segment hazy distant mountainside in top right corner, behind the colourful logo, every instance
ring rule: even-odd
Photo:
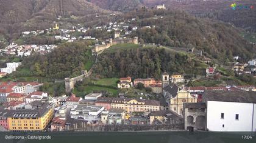
[[[231,22],[236,27],[256,32],[256,1],[255,0],[142,0],[147,7],[165,4],[167,8],[186,10],[194,15],[215,18],[224,22]],[[254,8],[232,10],[231,4],[251,6]]]

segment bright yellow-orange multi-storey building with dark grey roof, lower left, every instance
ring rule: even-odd
[[[34,101],[25,105],[25,109],[8,113],[10,131],[43,131],[54,116],[54,108],[48,102]]]

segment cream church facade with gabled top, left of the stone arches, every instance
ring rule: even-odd
[[[190,92],[182,89],[177,91],[176,96],[172,96],[170,99],[170,110],[176,112],[178,115],[182,115],[183,103],[197,102],[195,96],[191,96]]]

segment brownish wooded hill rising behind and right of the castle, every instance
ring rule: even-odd
[[[155,16],[157,15],[157,16]],[[174,47],[194,47],[204,54],[221,61],[232,60],[240,56],[244,61],[255,56],[256,47],[244,39],[243,30],[223,22],[196,18],[186,12],[172,10],[151,10],[142,8],[126,13],[124,18],[137,16],[132,22],[140,28],[134,36],[144,42]]]

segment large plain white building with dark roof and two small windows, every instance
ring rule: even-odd
[[[207,130],[256,131],[256,94],[252,91],[205,91]]]

